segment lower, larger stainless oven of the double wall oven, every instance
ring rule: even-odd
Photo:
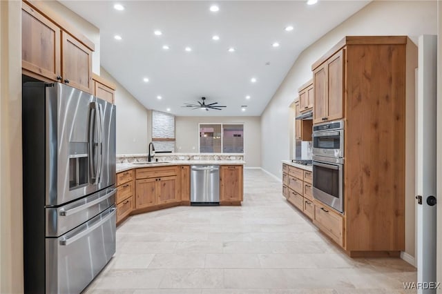
[[[331,160],[330,157],[313,155],[312,164],[313,197],[343,213],[344,164],[342,159]]]

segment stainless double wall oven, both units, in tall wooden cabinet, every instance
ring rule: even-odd
[[[312,140],[313,196],[343,213],[344,121],[314,125]]]

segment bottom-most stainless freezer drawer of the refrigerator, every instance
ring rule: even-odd
[[[115,205],[73,231],[46,238],[46,293],[80,293],[115,254]]]

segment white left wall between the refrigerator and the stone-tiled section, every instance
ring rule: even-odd
[[[104,68],[101,77],[117,86],[115,106],[117,106],[117,154],[147,153],[151,141],[151,110],[147,110],[118,83]]]

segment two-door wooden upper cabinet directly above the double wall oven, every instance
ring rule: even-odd
[[[343,48],[313,68],[314,124],[340,119],[344,116],[344,60],[345,49]]]

